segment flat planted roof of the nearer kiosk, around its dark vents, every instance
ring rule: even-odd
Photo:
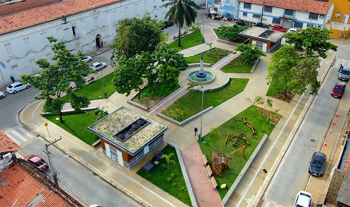
[[[130,134],[130,137],[125,141],[114,137],[120,131],[128,129],[140,118],[149,123]],[[163,134],[169,127],[123,106],[86,129],[133,154],[143,145]]]

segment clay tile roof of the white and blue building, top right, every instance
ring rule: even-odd
[[[332,3],[318,0],[238,0],[241,2],[287,8],[297,11],[327,14]]]

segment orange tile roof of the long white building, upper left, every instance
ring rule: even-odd
[[[62,15],[69,16],[118,1],[122,0],[67,0],[0,16],[0,34],[59,19],[62,18]]]

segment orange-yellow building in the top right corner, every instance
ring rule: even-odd
[[[334,33],[330,34],[333,37],[342,37],[350,34],[350,1],[349,0],[329,0],[329,2],[334,3],[333,16],[331,21],[325,24],[326,28],[329,28]]]

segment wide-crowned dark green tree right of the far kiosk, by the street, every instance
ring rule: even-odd
[[[321,57],[327,58],[326,52],[328,50],[337,51],[338,48],[337,45],[327,41],[331,39],[330,33],[333,31],[326,27],[321,30],[321,27],[311,26],[301,32],[288,32],[284,36],[287,43],[294,44],[294,47],[300,51],[304,51],[305,48],[307,55],[313,55],[316,51]]]

